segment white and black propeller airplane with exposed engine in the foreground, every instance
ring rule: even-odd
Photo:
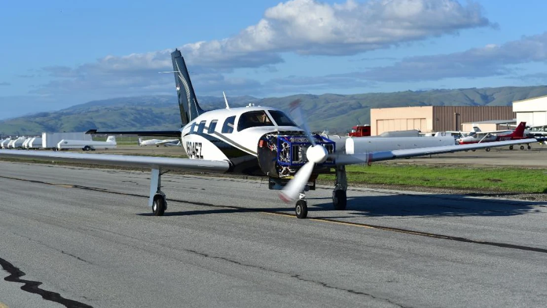
[[[392,138],[393,149],[397,150],[353,154],[346,154],[342,150],[337,152],[335,142],[312,134],[304,123],[301,123],[301,126],[296,125],[287,114],[276,108],[259,106],[230,108],[228,101],[225,100],[225,109],[203,111],[197,103],[181,52],[175,50],[171,57],[181,120],[184,125],[181,130],[156,132],[92,130],[90,133],[181,137],[183,148],[189,158],[10,150],[0,150],[0,156],[151,168],[148,205],[152,207],[155,216],[162,216],[167,208],[166,196],[161,191],[162,170],[266,176],[269,177],[269,188],[282,189],[281,199],[286,202],[296,201],[296,217],[305,218],[307,203],[304,191],[315,189],[315,179],[320,173],[335,171],[333,204],[336,210],[343,210],[347,203],[346,165],[536,142],[536,139],[530,138],[464,146],[452,143],[450,146],[397,149],[397,138]],[[299,118],[302,118],[297,104],[292,104],[292,108],[299,113]]]

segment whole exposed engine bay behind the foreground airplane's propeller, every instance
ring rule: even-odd
[[[313,135],[316,144],[321,144],[328,153],[334,153],[336,145],[333,141]],[[258,142],[258,161],[261,170],[269,177],[292,178],[296,171],[306,164],[306,150],[311,146],[307,136],[299,131],[271,132],[260,138]],[[327,159],[314,168],[315,176],[326,172],[334,166],[334,161]]]

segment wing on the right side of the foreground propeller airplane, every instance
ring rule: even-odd
[[[375,162],[375,161],[392,160],[392,159],[398,159],[398,158],[409,158],[409,157],[432,155],[432,154],[444,154],[444,153],[452,153],[452,152],[460,152],[460,151],[476,150],[476,149],[484,149],[484,148],[504,147],[504,146],[511,146],[514,144],[526,144],[526,143],[533,143],[533,142],[538,142],[538,140],[536,138],[528,138],[528,139],[521,139],[521,140],[462,144],[462,145],[456,145],[456,146],[377,151],[377,152],[368,152],[368,153],[357,153],[352,155],[342,154],[342,155],[335,155],[334,159],[337,165],[366,164],[366,163]]]

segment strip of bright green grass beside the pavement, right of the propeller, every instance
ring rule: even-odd
[[[347,166],[348,183],[547,193],[547,170],[499,167]],[[319,179],[334,181],[334,175]]]

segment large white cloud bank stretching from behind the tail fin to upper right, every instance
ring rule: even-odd
[[[328,4],[317,0],[291,0],[266,9],[257,24],[232,37],[184,44],[182,51],[196,88],[228,90],[256,86],[248,79],[224,78],[218,74],[235,68],[269,68],[283,62],[281,53],[302,55],[350,55],[389,48],[459,30],[491,25],[474,2],[457,0],[369,0]],[[45,67],[55,78],[34,90],[41,94],[71,91],[105,91],[115,95],[151,89],[172,90],[172,50],[125,56],[105,56],[76,68]],[[201,77],[199,77],[202,75]],[[331,78],[331,77],[329,77]],[[337,78],[340,80],[340,78]],[[216,88],[218,87],[218,88]],[[140,89],[140,90],[139,90]],[[81,92],[80,92],[81,93]]]

